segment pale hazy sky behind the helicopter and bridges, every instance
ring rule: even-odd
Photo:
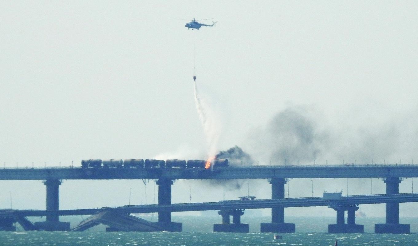
[[[291,150],[304,164],[418,162],[416,13],[416,1],[2,1],[0,164],[206,158],[193,33],[196,81],[219,119],[219,150],[239,145],[261,163],[282,164],[293,119],[301,119],[308,131],[297,136],[309,132],[312,140]],[[219,22],[192,31],[175,20],[193,17]],[[345,190],[346,182],[322,182],[315,195]],[[350,182],[353,192],[370,185]],[[269,197],[267,181],[250,184],[252,194]],[[301,187],[293,196],[311,195],[310,180],[290,184]],[[381,180],[373,184],[384,192]],[[0,186],[0,208],[10,207],[9,191],[14,208],[45,208],[40,181]],[[154,184],[147,186],[151,203]],[[177,181],[173,202],[188,202],[189,186],[192,201],[223,198],[220,187]],[[131,187],[133,203],[145,203],[140,180],[64,181],[60,207],[125,205]],[[244,185],[226,198],[246,192]],[[384,205],[364,208],[384,215]]]

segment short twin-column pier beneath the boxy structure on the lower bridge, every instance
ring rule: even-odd
[[[356,211],[359,209],[356,205],[334,206],[337,212],[337,223],[328,225],[328,233],[363,233],[364,226],[356,224]],[[347,224],[345,223],[344,213],[347,210]]]

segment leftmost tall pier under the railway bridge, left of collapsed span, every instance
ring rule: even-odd
[[[47,179],[43,182],[46,185],[46,210],[59,210],[59,179]],[[35,227],[41,231],[69,231],[70,223],[59,221],[58,215],[47,215],[46,221],[36,222]]]

